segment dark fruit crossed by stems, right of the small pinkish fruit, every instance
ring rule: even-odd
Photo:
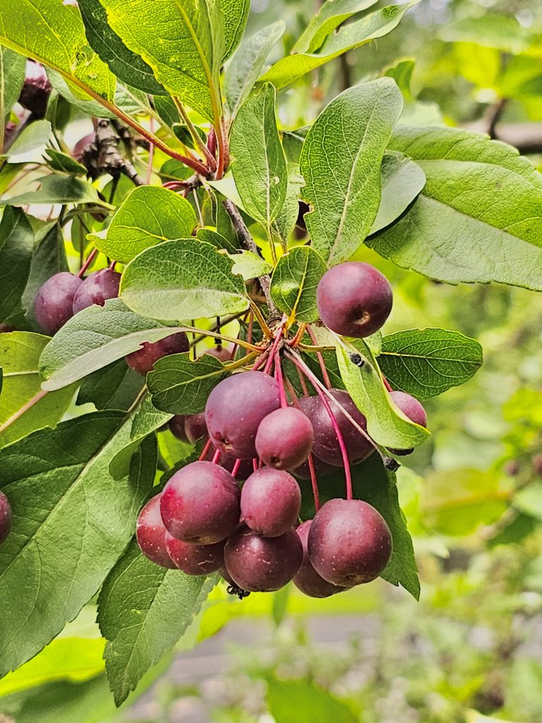
[[[361,411],[353,403],[352,398],[343,389],[330,389],[332,396],[348,411],[348,414],[359,424],[361,429],[367,428],[367,422]],[[353,426],[348,417],[340,411],[337,403],[328,398],[330,408],[337,419],[340,432],[343,435],[348,459],[355,462],[369,457],[374,451],[371,442]],[[314,429],[313,453],[327,464],[335,467],[343,466],[343,455],[340,453],[339,442],[335,435],[335,429],[327,413],[327,409],[320,397],[302,397],[298,401],[299,406],[309,417]]]

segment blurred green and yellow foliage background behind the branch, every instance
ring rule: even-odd
[[[283,18],[288,51],[317,7],[253,0],[249,33]],[[423,0],[282,95],[280,121],[303,126],[343,87],[387,72],[404,122],[491,132],[541,167],[541,40],[538,1]],[[288,588],[239,602],[218,586],[120,711],[89,606],[0,681],[0,722],[542,721],[542,298],[357,257],[394,286],[388,332],[456,329],[484,350],[473,380],[427,403],[431,440],[398,474],[421,602],[382,581],[322,601]]]

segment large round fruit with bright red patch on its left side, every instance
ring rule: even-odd
[[[163,523],[169,534],[183,542],[220,542],[238,525],[240,497],[235,479],[223,467],[192,462],[173,474],[163,489]]]

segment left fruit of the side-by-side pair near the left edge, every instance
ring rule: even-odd
[[[74,315],[74,296],[82,280],[69,271],[48,278],[34,299],[34,316],[46,334],[53,336]]]

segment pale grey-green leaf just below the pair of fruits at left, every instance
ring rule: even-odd
[[[103,307],[93,304],[66,322],[43,350],[43,389],[77,382],[136,351],[144,341],[158,341],[176,331],[182,329],[134,314],[121,299],[108,299]]]

